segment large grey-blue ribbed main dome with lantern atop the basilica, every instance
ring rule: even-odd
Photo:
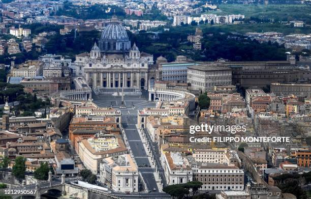
[[[131,48],[131,42],[125,28],[119,24],[114,15],[111,22],[104,28],[99,41],[102,52],[126,52]]]

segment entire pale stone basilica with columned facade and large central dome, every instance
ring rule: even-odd
[[[83,76],[92,89],[148,89],[153,56],[131,47],[123,26],[113,16],[90,52],[76,55],[76,75]],[[154,77],[152,77],[154,80]]]

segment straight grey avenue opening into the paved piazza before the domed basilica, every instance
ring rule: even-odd
[[[153,188],[155,188],[157,192],[157,193],[153,193],[153,192],[148,193],[148,195],[152,198],[153,198],[153,196],[151,196],[152,194],[154,194],[154,196],[159,196],[159,198],[164,198],[165,196],[168,196],[167,194],[159,193],[157,182],[155,181],[154,175],[153,175],[153,172],[155,172],[155,169],[151,168],[151,165],[148,161],[148,155],[146,154],[144,150],[141,137],[136,128],[138,110],[143,109],[145,107],[155,107],[155,102],[148,101],[143,95],[142,96],[125,95],[124,97],[125,102],[123,105],[125,105],[126,108],[119,108],[119,106],[121,106],[120,96],[100,94],[100,95],[93,95],[92,97],[93,97],[93,102],[96,103],[100,107],[111,106],[121,111],[122,126],[125,130],[125,133],[126,133],[126,136],[127,136],[130,148],[131,148],[131,152],[139,167],[138,170],[139,172],[141,172],[141,175],[146,183],[147,189],[153,191]],[[133,109],[133,105],[134,105],[134,109]],[[133,197],[138,197],[139,195],[142,195],[142,194],[138,194],[138,195],[135,194],[135,196],[133,195]],[[125,196],[125,195],[123,194],[123,195],[118,195],[118,196]]]

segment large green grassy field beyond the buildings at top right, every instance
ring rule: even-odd
[[[244,14],[246,18],[274,19],[282,21],[303,20],[311,23],[311,5],[241,5],[221,4],[220,11],[209,11],[208,14]]]

